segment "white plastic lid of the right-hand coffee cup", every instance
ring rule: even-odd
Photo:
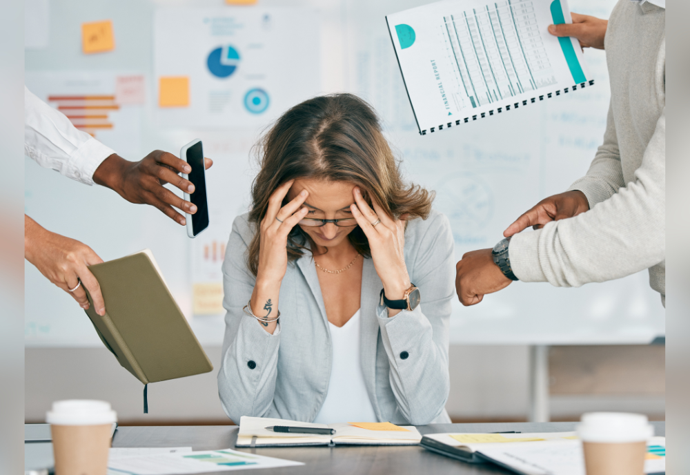
[[[589,412],[577,427],[584,442],[627,443],[648,440],[654,427],[642,414],[627,412]]]

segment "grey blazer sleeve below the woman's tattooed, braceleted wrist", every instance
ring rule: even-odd
[[[223,306],[227,313],[218,372],[221,405],[238,425],[241,416],[272,416],[280,345],[280,324],[271,335],[257,320],[242,311],[256,283],[256,278],[246,267],[247,243],[237,227],[237,220],[243,219],[237,217],[233,223],[223,263]]]

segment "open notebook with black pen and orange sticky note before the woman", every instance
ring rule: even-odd
[[[359,424],[359,423],[357,423]],[[287,425],[290,427],[320,427],[335,429],[333,435],[295,434],[273,432],[266,427]],[[375,427],[367,423],[364,427]],[[422,435],[411,425],[393,426],[395,430],[372,430],[355,427],[350,423],[314,424],[296,420],[270,419],[242,416],[235,447],[290,447],[298,445],[417,445]]]

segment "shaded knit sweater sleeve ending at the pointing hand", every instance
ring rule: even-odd
[[[568,190],[582,191],[589,202],[589,209],[592,209],[595,204],[608,200],[622,186],[625,186],[625,181],[620,164],[618,137],[616,136],[615,121],[613,120],[613,106],[609,102],[609,115],[607,116],[604,143],[597,149],[587,174],[573,183]]]

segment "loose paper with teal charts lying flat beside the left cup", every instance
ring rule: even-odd
[[[116,458],[108,461],[108,474],[199,474],[255,468],[291,467],[294,465],[304,465],[304,463],[224,449]]]

